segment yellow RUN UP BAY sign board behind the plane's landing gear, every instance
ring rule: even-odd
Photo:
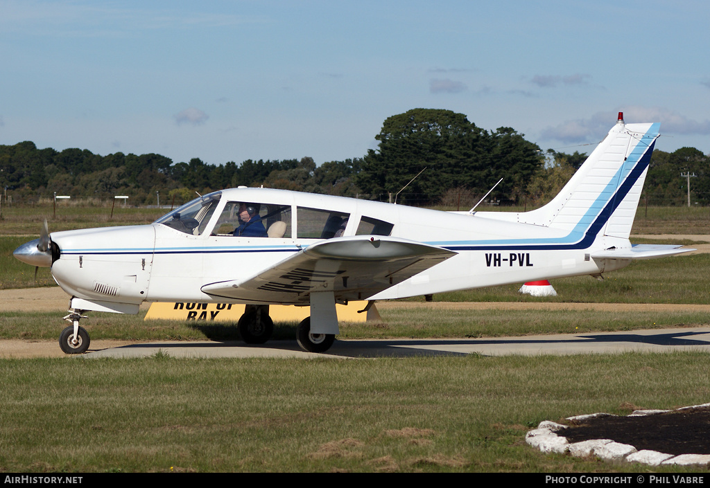
[[[363,310],[367,301],[350,301],[347,305],[336,304],[335,311],[338,321],[365,322],[381,321],[376,306]],[[180,321],[215,321],[237,323],[244,314],[244,305],[239,304],[205,304],[190,302],[156,302],[148,309],[145,320],[168,318]],[[270,305],[269,316],[274,322],[300,322],[310,316],[310,306]]]

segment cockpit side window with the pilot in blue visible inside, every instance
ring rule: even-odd
[[[213,234],[249,238],[290,238],[291,206],[228,201]]]

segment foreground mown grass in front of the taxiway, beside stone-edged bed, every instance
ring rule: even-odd
[[[704,402],[706,357],[1,360],[0,471],[689,472],[524,437],[542,420]]]

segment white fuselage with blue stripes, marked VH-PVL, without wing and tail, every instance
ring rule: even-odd
[[[288,207],[282,213],[288,234],[248,237],[217,232],[226,207],[238,201],[257,201],[262,208]],[[211,216],[192,233],[164,223],[53,233],[51,238],[61,250],[60,259],[53,263],[53,276],[65,292],[89,301],[224,301],[201,288],[251,277],[322,240],[321,235],[307,233],[310,229],[299,217],[313,209],[324,215],[347,216],[343,236],[367,232],[361,221],[376,219],[391,224],[392,237],[457,253],[400,284],[364,297],[369,299],[593,275],[628,264],[589,257],[591,250],[629,247],[628,239],[586,238],[584,233],[500,221],[493,213],[457,214],[274,189],[224,190],[214,205]]]

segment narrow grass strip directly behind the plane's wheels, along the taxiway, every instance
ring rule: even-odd
[[[65,312],[0,314],[0,339],[56,340]],[[137,316],[91,312],[82,321],[92,339],[115,340],[240,340],[235,326],[197,321],[143,321]],[[635,331],[707,326],[699,311],[595,310],[421,310],[381,311],[382,323],[341,323],[341,339],[480,338],[534,334]],[[297,323],[275,323],[273,340],[295,340]]]

